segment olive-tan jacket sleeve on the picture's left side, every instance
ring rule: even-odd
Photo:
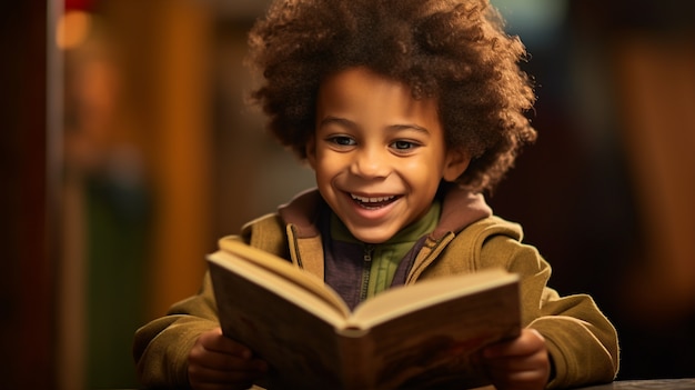
[[[201,291],[135,331],[133,357],[145,387],[188,387],[188,354],[203,332],[219,327],[210,276]]]

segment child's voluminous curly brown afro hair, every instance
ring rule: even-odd
[[[472,158],[456,182],[473,191],[491,191],[536,137],[525,48],[487,0],[276,0],[249,48],[264,78],[251,98],[302,160],[321,82],[359,66],[436,98],[447,147]]]

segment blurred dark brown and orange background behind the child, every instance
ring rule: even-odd
[[[695,377],[695,2],[493,3],[532,54],[540,138],[490,202],[613,320],[620,379]],[[0,387],[138,387],[134,330],[312,186],[244,104],[268,4],[6,4]]]

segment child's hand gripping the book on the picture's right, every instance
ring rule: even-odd
[[[482,361],[497,390],[544,389],[551,376],[545,339],[533,329],[520,337],[485,348]]]

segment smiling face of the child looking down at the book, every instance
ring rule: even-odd
[[[366,68],[323,82],[306,148],[321,194],[364,242],[380,243],[421,218],[442,179],[469,159],[446,149],[434,99]]]

